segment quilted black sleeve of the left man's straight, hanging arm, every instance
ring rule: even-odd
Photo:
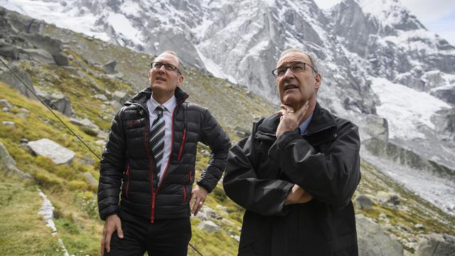
[[[100,161],[100,182],[98,184],[98,210],[100,218],[119,211],[119,193],[122,186],[122,171],[125,165],[125,135],[121,119],[122,110],[112,121],[109,140]]]

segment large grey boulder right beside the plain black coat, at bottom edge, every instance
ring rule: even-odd
[[[400,242],[392,240],[384,233],[378,223],[364,215],[355,215],[359,256],[402,256],[403,247]]]

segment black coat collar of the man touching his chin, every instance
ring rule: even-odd
[[[273,135],[277,134],[279,117],[279,114],[273,114],[270,117],[266,117],[262,124],[260,124],[258,127],[259,132]],[[316,107],[314,107],[313,111],[313,117],[310,124],[306,128],[304,136],[317,134],[326,129],[333,129],[334,127],[336,127],[336,122],[333,114],[328,112],[328,110],[322,108],[319,105],[319,102],[316,102]]]

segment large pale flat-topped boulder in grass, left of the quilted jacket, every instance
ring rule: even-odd
[[[60,144],[50,139],[38,139],[28,142],[28,146],[35,154],[48,157],[55,164],[67,164],[73,161],[75,155],[74,151],[60,146]]]

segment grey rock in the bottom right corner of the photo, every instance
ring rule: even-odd
[[[455,237],[452,235],[429,234],[419,242],[415,256],[452,256],[455,252]]]

